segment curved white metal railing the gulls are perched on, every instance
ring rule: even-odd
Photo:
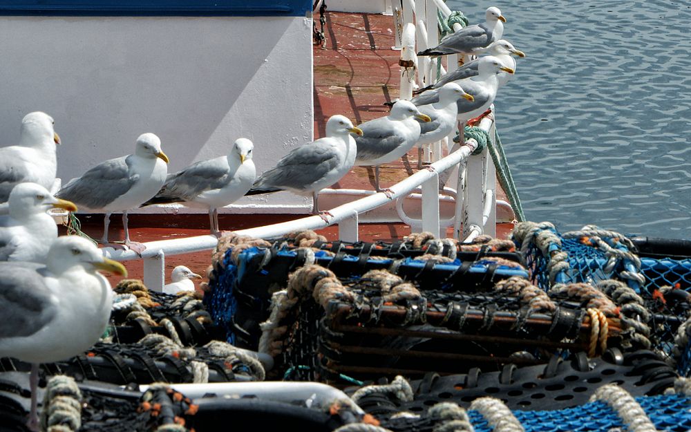
[[[442,8],[442,14],[448,16],[450,12],[446,5],[439,0],[394,0],[393,15],[403,17],[404,28],[401,30],[401,59],[419,62],[415,50],[425,49],[427,42],[437,44],[437,8]],[[443,7],[442,7],[443,6]],[[419,32],[417,47],[415,46],[414,19],[418,19]],[[399,30],[399,29],[397,29]],[[454,56],[455,57],[455,56]],[[451,62],[452,59],[449,59]],[[420,84],[433,82],[435,74],[431,74],[428,63],[424,68],[417,68]],[[438,60],[439,61],[439,60]],[[453,59],[455,62],[455,59]],[[453,64],[453,63],[450,63]],[[424,77],[420,77],[421,69]],[[408,70],[407,72],[415,73]],[[406,75],[406,67],[401,66],[401,98],[412,97],[414,75]],[[408,93],[410,92],[410,93]],[[460,125],[459,127],[462,127]],[[480,122],[480,128],[494,136],[493,116],[487,116]],[[453,136],[449,136],[451,140]],[[492,138],[493,139],[493,138]],[[237,234],[258,238],[274,238],[303,229],[321,229],[330,225],[339,225],[339,238],[343,241],[358,241],[359,218],[362,214],[396,200],[396,209],[401,220],[411,226],[419,226],[422,230],[432,232],[435,236],[442,234],[442,229],[453,225],[456,238],[466,240],[475,238],[479,234],[495,235],[496,225],[496,196],[494,165],[487,150],[480,155],[471,156],[477,148],[473,139],[466,140],[466,144],[453,151],[446,157],[442,156],[441,144],[437,144],[437,151],[433,152],[435,162],[426,169],[417,171],[412,176],[389,187],[386,192],[357,191],[354,189],[330,189],[329,194],[357,195],[366,194],[363,198],[345,203],[330,209],[321,215],[307,216],[283,223],[275,223],[262,227],[241,229]],[[451,175],[451,173],[455,175]],[[439,176],[442,174],[447,180],[453,180],[453,187],[444,187],[443,194],[439,194]],[[450,178],[451,177],[451,178]],[[450,178],[450,179],[449,179]],[[422,219],[410,218],[402,209],[402,202],[410,194],[421,198]],[[440,200],[455,200],[455,212],[451,219],[440,220]],[[460,229],[463,229],[463,232]],[[213,250],[218,243],[216,236],[193,236],[171,240],[152,241],[144,243],[146,250],[140,256],[131,250],[115,250],[104,247],[104,255],[116,261],[139,260],[144,261],[144,284],[153,290],[162,290],[164,285],[165,257],[179,254],[189,254],[204,250]]]

